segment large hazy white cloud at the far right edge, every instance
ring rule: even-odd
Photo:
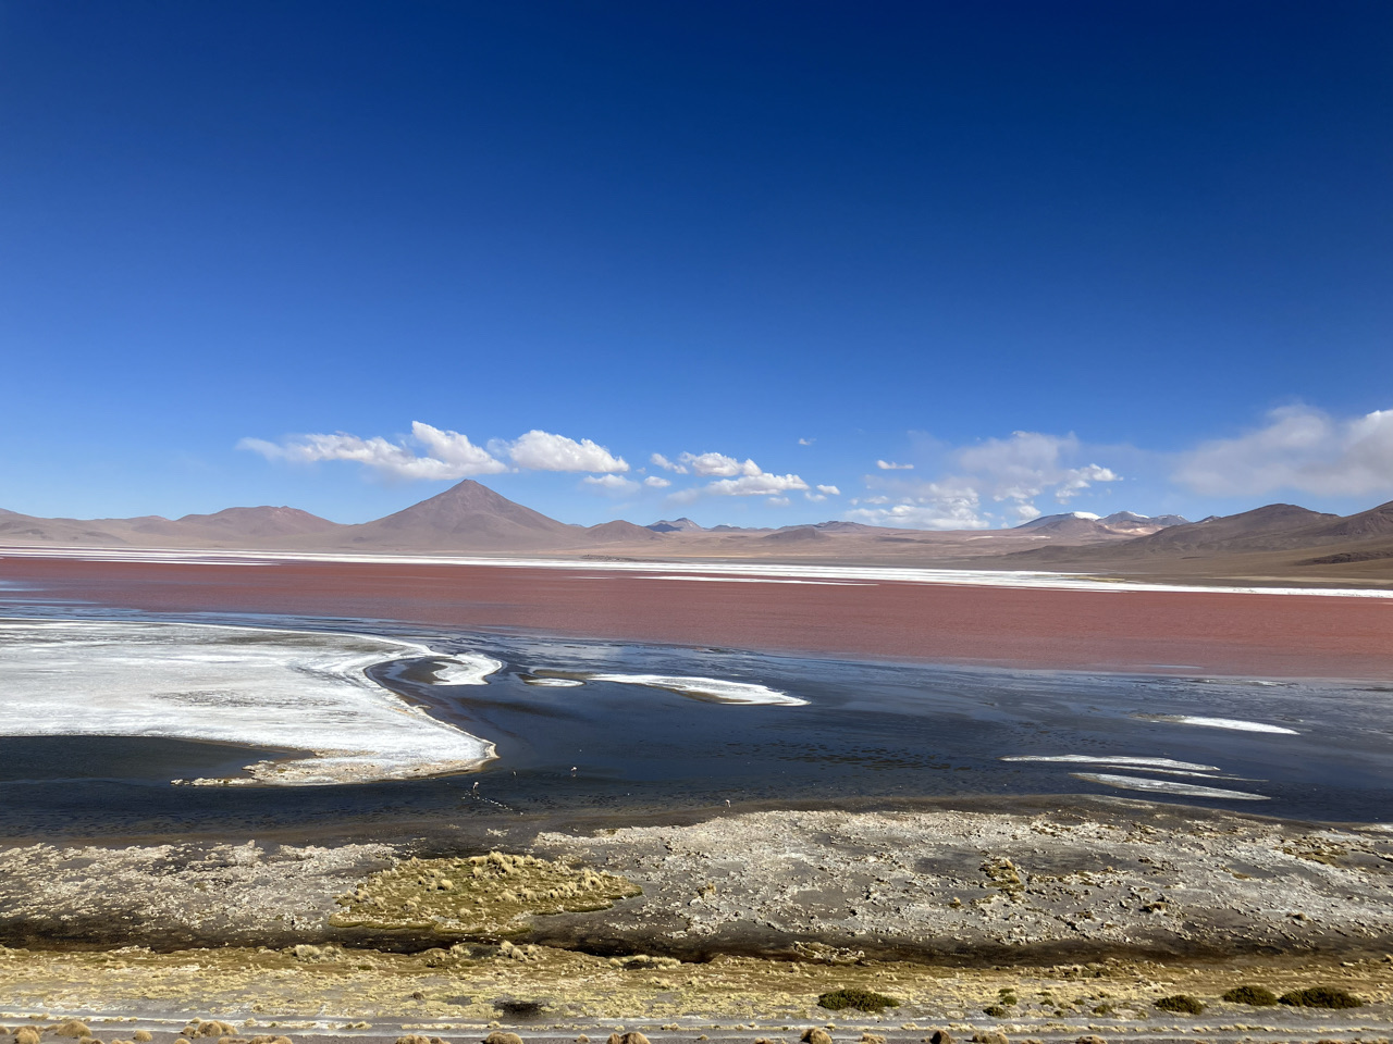
[[[1211,496],[1298,490],[1318,496],[1393,491],[1393,409],[1337,419],[1311,406],[1283,406],[1237,438],[1217,438],[1181,457],[1176,482]]]

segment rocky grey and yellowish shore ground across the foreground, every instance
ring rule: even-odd
[[[712,1027],[791,1041],[811,1022],[915,1043],[931,1026],[1386,1033],[1393,832],[1109,798],[968,805],[415,845],[17,846],[0,852],[0,1022],[92,1015],[117,1019],[100,1030],[117,1038],[192,1013],[244,1036],[366,1038],[506,1023],[574,1040],[609,1019],[655,1043]],[[1367,1004],[1220,999],[1241,983]],[[843,986],[900,1006],[819,1006]],[[1170,994],[1206,1009],[1156,1009]]]

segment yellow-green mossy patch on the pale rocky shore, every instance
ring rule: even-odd
[[[534,915],[606,910],[641,894],[623,877],[535,856],[408,859],[340,895],[330,923],[499,935],[524,931]]]

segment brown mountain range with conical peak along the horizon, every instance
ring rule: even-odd
[[[291,507],[124,519],[33,518],[0,509],[0,546],[553,554],[635,560],[825,561],[1013,569],[1085,569],[1188,579],[1393,582],[1393,503],[1350,515],[1268,504],[1188,522],[1119,511],[1046,515],[1014,529],[892,529],[829,521],[779,529],[702,528],[688,518],[646,526],[577,526],[465,479],[403,511],[343,525]]]

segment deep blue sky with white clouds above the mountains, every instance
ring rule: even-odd
[[[1383,0],[0,0],[0,507],[1390,500],[1390,47]]]

